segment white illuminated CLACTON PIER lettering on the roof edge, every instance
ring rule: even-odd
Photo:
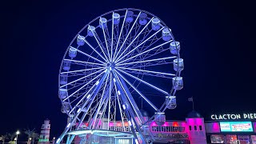
[[[225,119],[255,119],[256,113],[249,114],[211,114],[212,120],[225,120]]]

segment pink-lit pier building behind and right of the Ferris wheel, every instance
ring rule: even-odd
[[[142,113],[143,117],[147,120],[149,117]],[[242,120],[215,120],[205,121],[198,112],[191,111],[185,121],[166,120],[164,122],[148,123],[148,126],[143,128],[144,134],[151,132],[154,137],[153,143],[185,143],[185,144],[207,144],[207,143],[241,143],[241,144],[256,144],[256,119],[242,119]],[[87,122],[83,125],[86,127]],[[107,121],[101,121],[101,126],[107,127]],[[125,129],[123,129],[122,122],[110,122],[109,130],[116,131],[130,131],[128,122],[124,122]],[[75,143],[79,143],[82,137],[77,136]],[[132,138],[101,138],[95,135],[86,135],[86,139],[94,139],[98,143],[114,143],[121,144],[126,142],[133,144]],[[105,140],[105,141],[104,141]],[[88,142],[88,141],[86,141]],[[90,142],[89,142],[90,143]]]

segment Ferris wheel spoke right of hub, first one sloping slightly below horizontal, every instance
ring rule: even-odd
[[[162,72],[158,72],[158,71],[151,71],[151,70],[140,70],[140,69],[131,69],[131,68],[127,68],[127,67],[116,67],[117,69],[124,69],[124,70],[132,70],[134,72],[140,71],[142,72],[141,74],[157,74],[157,75],[152,75],[152,76],[158,76],[158,77],[162,77],[162,78],[174,78],[176,75],[175,74],[168,74],[168,73],[162,73]],[[171,77],[167,77],[171,76]]]

